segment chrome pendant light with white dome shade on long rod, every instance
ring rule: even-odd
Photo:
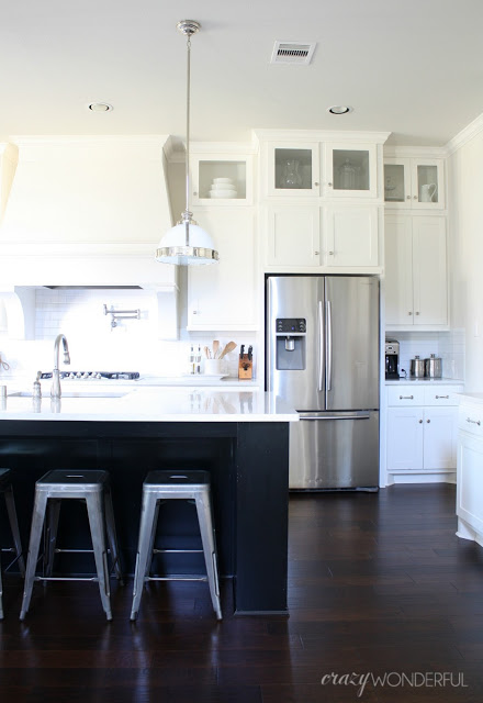
[[[199,266],[213,264],[218,260],[218,253],[206,232],[193,220],[190,212],[190,63],[191,36],[200,30],[200,24],[193,20],[178,22],[177,29],[187,36],[188,48],[188,80],[187,80],[187,207],[181,213],[181,220],[165,234],[156,249],[156,260],[162,264],[178,264],[179,266]]]

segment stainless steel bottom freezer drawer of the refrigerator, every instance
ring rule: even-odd
[[[379,412],[306,412],[290,426],[291,489],[379,486]]]

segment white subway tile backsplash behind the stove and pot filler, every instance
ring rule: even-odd
[[[103,305],[115,310],[139,310],[139,320],[119,320],[111,327],[111,315]],[[60,332],[68,339],[74,370],[139,371],[153,376],[180,376],[189,372],[190,347],[202,354],[204,346],[220,339],[222,347],[229,341],[252,345],[255,371],[257,364],[254,333],[188,333],[180,341],[158,338],[156,295],[148,290],[132,289],[37,289],[35,300],[35,341],[19,342],[0,337],[2,358],[11,370],[35,376],[53,366],[53,344]],[[225,357],[224,371],[238,375],[238,352]],[[202,356],[202,368],[203,368]],[[256,376],[256,375],[255,375]]]

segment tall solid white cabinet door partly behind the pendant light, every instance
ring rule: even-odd
[[[220,261],[188,268],[188,330],[255,330],[252,209],[206,208],[194,217],[213,237]]]

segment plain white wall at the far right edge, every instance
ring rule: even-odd
[[[479,129],[478,122],[481,122]],[[449,157],[451,327],[464,338],[465,389],[483,391],[483,120]],[[472,136],[470,136],[472,134]],[[449,145],[451,147],[451,144]]]

